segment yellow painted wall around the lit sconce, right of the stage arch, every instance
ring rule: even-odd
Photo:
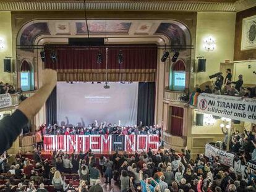
[[[206,72],[195,74],[195,84],[209,81],[209,75],[219,72],[220,62],[233,60],[234,30],[236,13],[198,12],[195,57],[204,56],[207,59]],[[203,40],[208,36],[215,39],[214,51],[206,51]],[[195,69],[197,70],[197,59]]]

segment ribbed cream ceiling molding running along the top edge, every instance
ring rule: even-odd
[[[245,0],[255,1],[255,0]],[[244,2],[238,3],[241,7]],[[1,1],[0,10],[83,10],[81,1]],[[87,1],[87,10],[221,11],[236,12],[233,2]]]

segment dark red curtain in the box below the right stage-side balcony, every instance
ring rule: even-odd
[[[183,108],[171,107],[171,135],[182,136],[183,113]]]

